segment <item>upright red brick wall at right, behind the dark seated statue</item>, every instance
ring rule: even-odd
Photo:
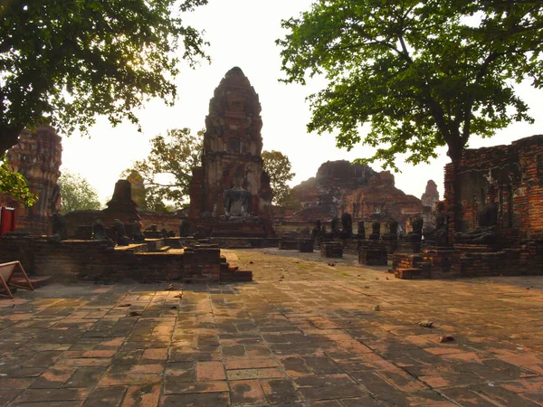
[[[445,166],[445,200],[451,216],[452,173],[452,164]],[[496,203],[500,244],[543,237],[543,136],[522,138],[508,146],[467,149],[457,176],[462,232],[477,227],[481,204]],[[453,219],[450,225],[455,232]]]

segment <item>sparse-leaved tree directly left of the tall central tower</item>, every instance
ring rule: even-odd
[[[192,135],[190,128],[167,130],[167,136],[158,135],[151,140],[149,156],[134,163],[121,176],[138,174],[145,189],[145,206],[148,211],[163,211],[165,201],[177,208],[188,204],[188,188],[192,169],[200,165],[203,132]],[[139,179],[140,177],[140,179]],[[129,178],[130,180],[130,178]]]

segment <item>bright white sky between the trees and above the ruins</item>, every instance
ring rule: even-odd
[[[188,15],[187,21],[205,29],[205,40],[211,43],[207,52],[213,62],[206,62],[194,71],[184,66],[176,80],[179,98],[173,108],[161,100],[152,100],[138,112],[143,134],[130,124],[112,128],[106,118],[100,118],[90,129],[90,139],[74,134],[62,137],[62,167],[80,173],[99,192],[104,202],[113,193],[120,173],[136,160],[148,156],[149,140],[165,134],[167,128],[191,128],[194,132],[205,127],[209,99],[226,71],[239,66],[260,96],[262,104],[262,138],[264,149],[279,150],[289,156],[296,173],[291,185],[314,176],[319,166],[329,160],[370,156],[368,147],[356,147],[350,152],[336,147],[332,135],[319,137],[308,134],[309,104],[305,97],[321,89],[324,82],[311,82],[306,87],[278,82],[282,76],[281,51],[275,40],[283,36],[281,19],[297,16],[310,8],[311,0],[210,0]],[[543,134],[543,114],[538,102],[542,90],[529,85],[519,87],[519,95],[531,107],[534,125],[520,123],[500,131],[496,137],[473,137],[470,147],[510,144],[512,140]],[[429,179],[438,185],[443,196],[443,166],[449,162],[445,150],[429,166],[410,166],[399,162],[401,174],[395,174],[395,185],[406,194],[419,197]],[[374,169],[381,168],[373,165]]]

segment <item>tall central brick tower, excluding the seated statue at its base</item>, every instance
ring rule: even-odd
[[[193,173],[189,218],[224,216],[224,191],[237,177],[251,194],[252,215],[262,219],[266,234],[272,233],[270,179],[262,171],[261,110],[258,94],[243,71],[234,67],[226,72],[209,102],[202,167]],[[252,235],[247,226],[243,229]]]

